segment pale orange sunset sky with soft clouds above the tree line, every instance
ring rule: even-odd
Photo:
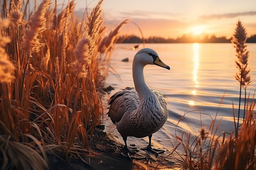
[[[86,0],[75,2],[76,11],[83,12]],[[97,2],[87,1],[89,8]],[[177,38],[185,33],[230,38],[239,19],[249,36],[256,34],[256,0],[105,0],[102,7],[107,26],[112,28],[130,19],[139,25],[145,38]],[[140,36],[132,23],[124,26],[121,33]]]

